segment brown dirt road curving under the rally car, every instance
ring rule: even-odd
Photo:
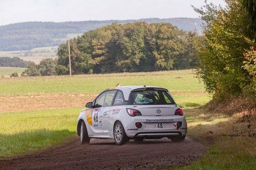
[[[205,148],[187,137],[181,143],[170,139],[130,140],[116,146],[113,140],[92,139],[80,145],[74,139],[65,145],[31,155],[0,159],[0,169],[162,169],[189,164]]]

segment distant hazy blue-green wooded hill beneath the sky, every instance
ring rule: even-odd
[[[75,22],[22,22],[0,26],[0,50],[28,50],[36,47],[58,46],[67,38],[84,33],[113,22],[127,23],[134,21],[167,22],[186,31],[195,30],[201,34],[202,20],[199,18],[140,19],[140,20],[107,20]]]

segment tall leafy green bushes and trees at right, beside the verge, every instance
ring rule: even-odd
[[[243,100],[251,98],[255,103],[256,2],[226,3],[225,8],[207,3],[195,8],[205,21],[204,36],[197,42],[197,74],[215,99],[243,96]],[[239,101],[237,104],[242,100]]]

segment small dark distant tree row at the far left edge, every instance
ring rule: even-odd
[[[19,57],[0,57],[0,67],[27,67],[29,63]]]

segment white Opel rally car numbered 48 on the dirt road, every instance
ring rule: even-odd
[[[169,91],[159,87],[123,86],[107,89],[86,104],[77,120],[81,143],[90,138],[114,139],[117,145],[133,139],[185,139],[187,122]]]

